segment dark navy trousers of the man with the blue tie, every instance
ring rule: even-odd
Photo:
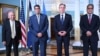
[[[62,43],[64,43],[65,56],[69,56],[69,37],[57,37],[57,56],[62,56]]]

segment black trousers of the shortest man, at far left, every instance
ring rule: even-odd
[[[11,47],[13,46],[14,56],[18,56],[18,41],[11,39],[9,44],[6,45],[6,56],[11,56]]]

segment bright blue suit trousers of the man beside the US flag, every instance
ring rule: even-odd
[[[36,42],[32,42],[32,48],[33,48],[33,56],[39,56],[38,50],[40,47],[40,56],[46,56],[46,46],[47,41],[38,40]]]

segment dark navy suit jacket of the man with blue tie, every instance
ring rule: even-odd
[[[57,36],[59,31],[66,31],[67,34],[66,36],[70,36],[70,31],[72,29],[72,17],[69,14],[65,14],[65,19],[63,24],[61,23],[60,20],[60,14],[56,15],[54,18],[54,30]]]

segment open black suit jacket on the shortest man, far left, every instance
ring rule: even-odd
[[[15,41],[18,42],[21,39],[21,25],[19,21],[15,21],[15,27],[16,27],[16,36]],[[6,41],[7,44],[9,44],[11,40],[11,27],[10,27],[10,21],[7,18],[2,25],[2,41]]]

